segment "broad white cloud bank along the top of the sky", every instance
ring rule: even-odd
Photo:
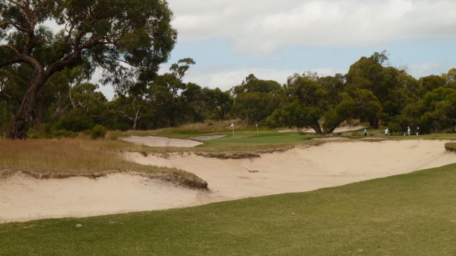
[[[229,38],[239,53],[281,46],[357,47],[440,36],[455,38],[456,1],[169,0],[179,41]]]

